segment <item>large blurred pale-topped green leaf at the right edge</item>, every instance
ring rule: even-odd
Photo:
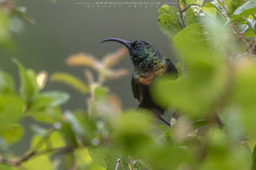
[[[235,73],[233,94],[230,104],[241,112],[242,124],[250,134],[256,135],[254,128],[256,119],[255,85],[256,63],[251,58],[242,58]]]

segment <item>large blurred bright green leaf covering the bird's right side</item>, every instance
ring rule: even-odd
[[[213,39],[211,39],[213,40]],[[172,81],[162,79],[153,91],[155,101],[165,107],[200,114],[207,112],[218,100],[225,83],[222,54],[209,46],[208,34],[199,23],[190,24],[178,32],[174,45],[187,61],[187,75]]]

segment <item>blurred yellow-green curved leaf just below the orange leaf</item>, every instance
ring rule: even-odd
[[[87,94],[88,88],[85,83],[79,80],[77,77],[66,73],[54,73],[50,76],[51,81],[61,82],[66,85],[70,85],[82,94]]]

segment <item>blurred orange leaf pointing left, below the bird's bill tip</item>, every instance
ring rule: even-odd
[[[98,69],[99,67],[99,62],[94,58],[92,55],[84,54],[84,53],[78,53],[75,55],[70,56],[67,60],[66,63],[69,66],[72,67],[81,67],[81,66],[87,66],[91,67],[94,69]]]

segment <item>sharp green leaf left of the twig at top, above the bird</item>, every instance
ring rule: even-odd
[[[163,33],[172,38],[178,31],[182,30],[182,24],[176,7],[164,4],[160,7],[159,13],[159,27]]]

